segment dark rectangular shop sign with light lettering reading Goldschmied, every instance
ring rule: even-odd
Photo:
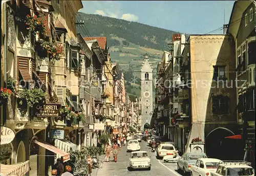
[[[33,113],[35,117],[60,117],[61,104],[35,105]]]

